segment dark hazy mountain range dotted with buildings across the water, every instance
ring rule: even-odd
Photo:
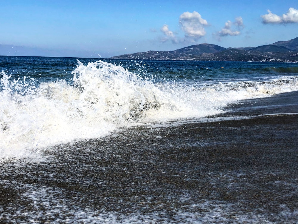
[[[298,62],[298,37],[258,47],[225,48],[213,44],[198,44],[173,51],[138,52],[112,59],[193,60],[193,61],[254,61]]]

